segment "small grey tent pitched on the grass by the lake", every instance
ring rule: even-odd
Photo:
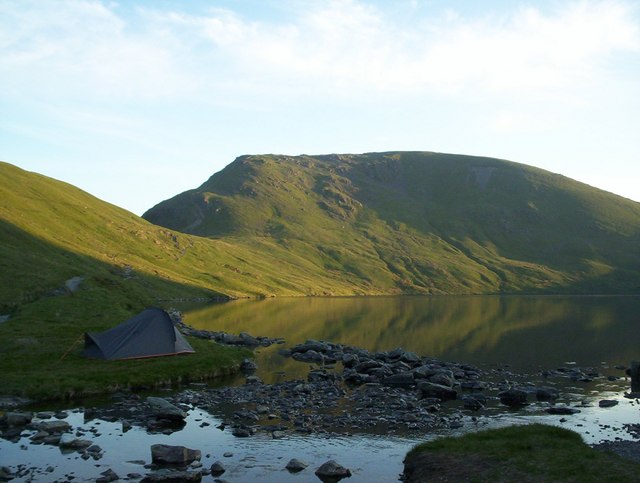
[[[195,352],[162,309],[150,308],[104,332],[84,334],[84,355],[139,359]]]

